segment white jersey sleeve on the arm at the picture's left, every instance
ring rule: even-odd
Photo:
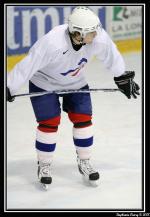
[[[24,85],[41,68],[45,67],[52,58],[53,46],[47,43],[37,43],[29,51],[28,55],[21,60],[7,75],[7,86],[12,95]]]

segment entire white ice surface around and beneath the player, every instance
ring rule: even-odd
[[[141,53],[124,55],[141,86]],[[117,88],[112,74],[97,60],[87,67],[91,88]],[[26,87],[20,92],[25,92]],[[85,184],[77,169],[72,124],[62,112],[48,191],[37,180],[37,123],[29,98],[7,103],[7,209],[140,209],[142,208],[142,97],[128,100],[120,92],[92,93],[94,146],[91,162],[100,184]]]

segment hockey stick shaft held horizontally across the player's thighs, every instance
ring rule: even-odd
[[[42,91],[42,92],[32,92],[32,93],[23,93],[23,94],[17,94],[14,95],[13,97],[21,97],[21,96],[29,96],[29,97],[34,97],[34,96],[42,96],[45,94],[69,94],[69,93],[90,93],[90,92],[98,92],[98,91],[103,91],[103,92],[115,92],[115,91],[120,91],[119,89],[110,89],[110,88],[91,88],[91,89],[80,89],[80,90],[54,90],[54,91]]]

